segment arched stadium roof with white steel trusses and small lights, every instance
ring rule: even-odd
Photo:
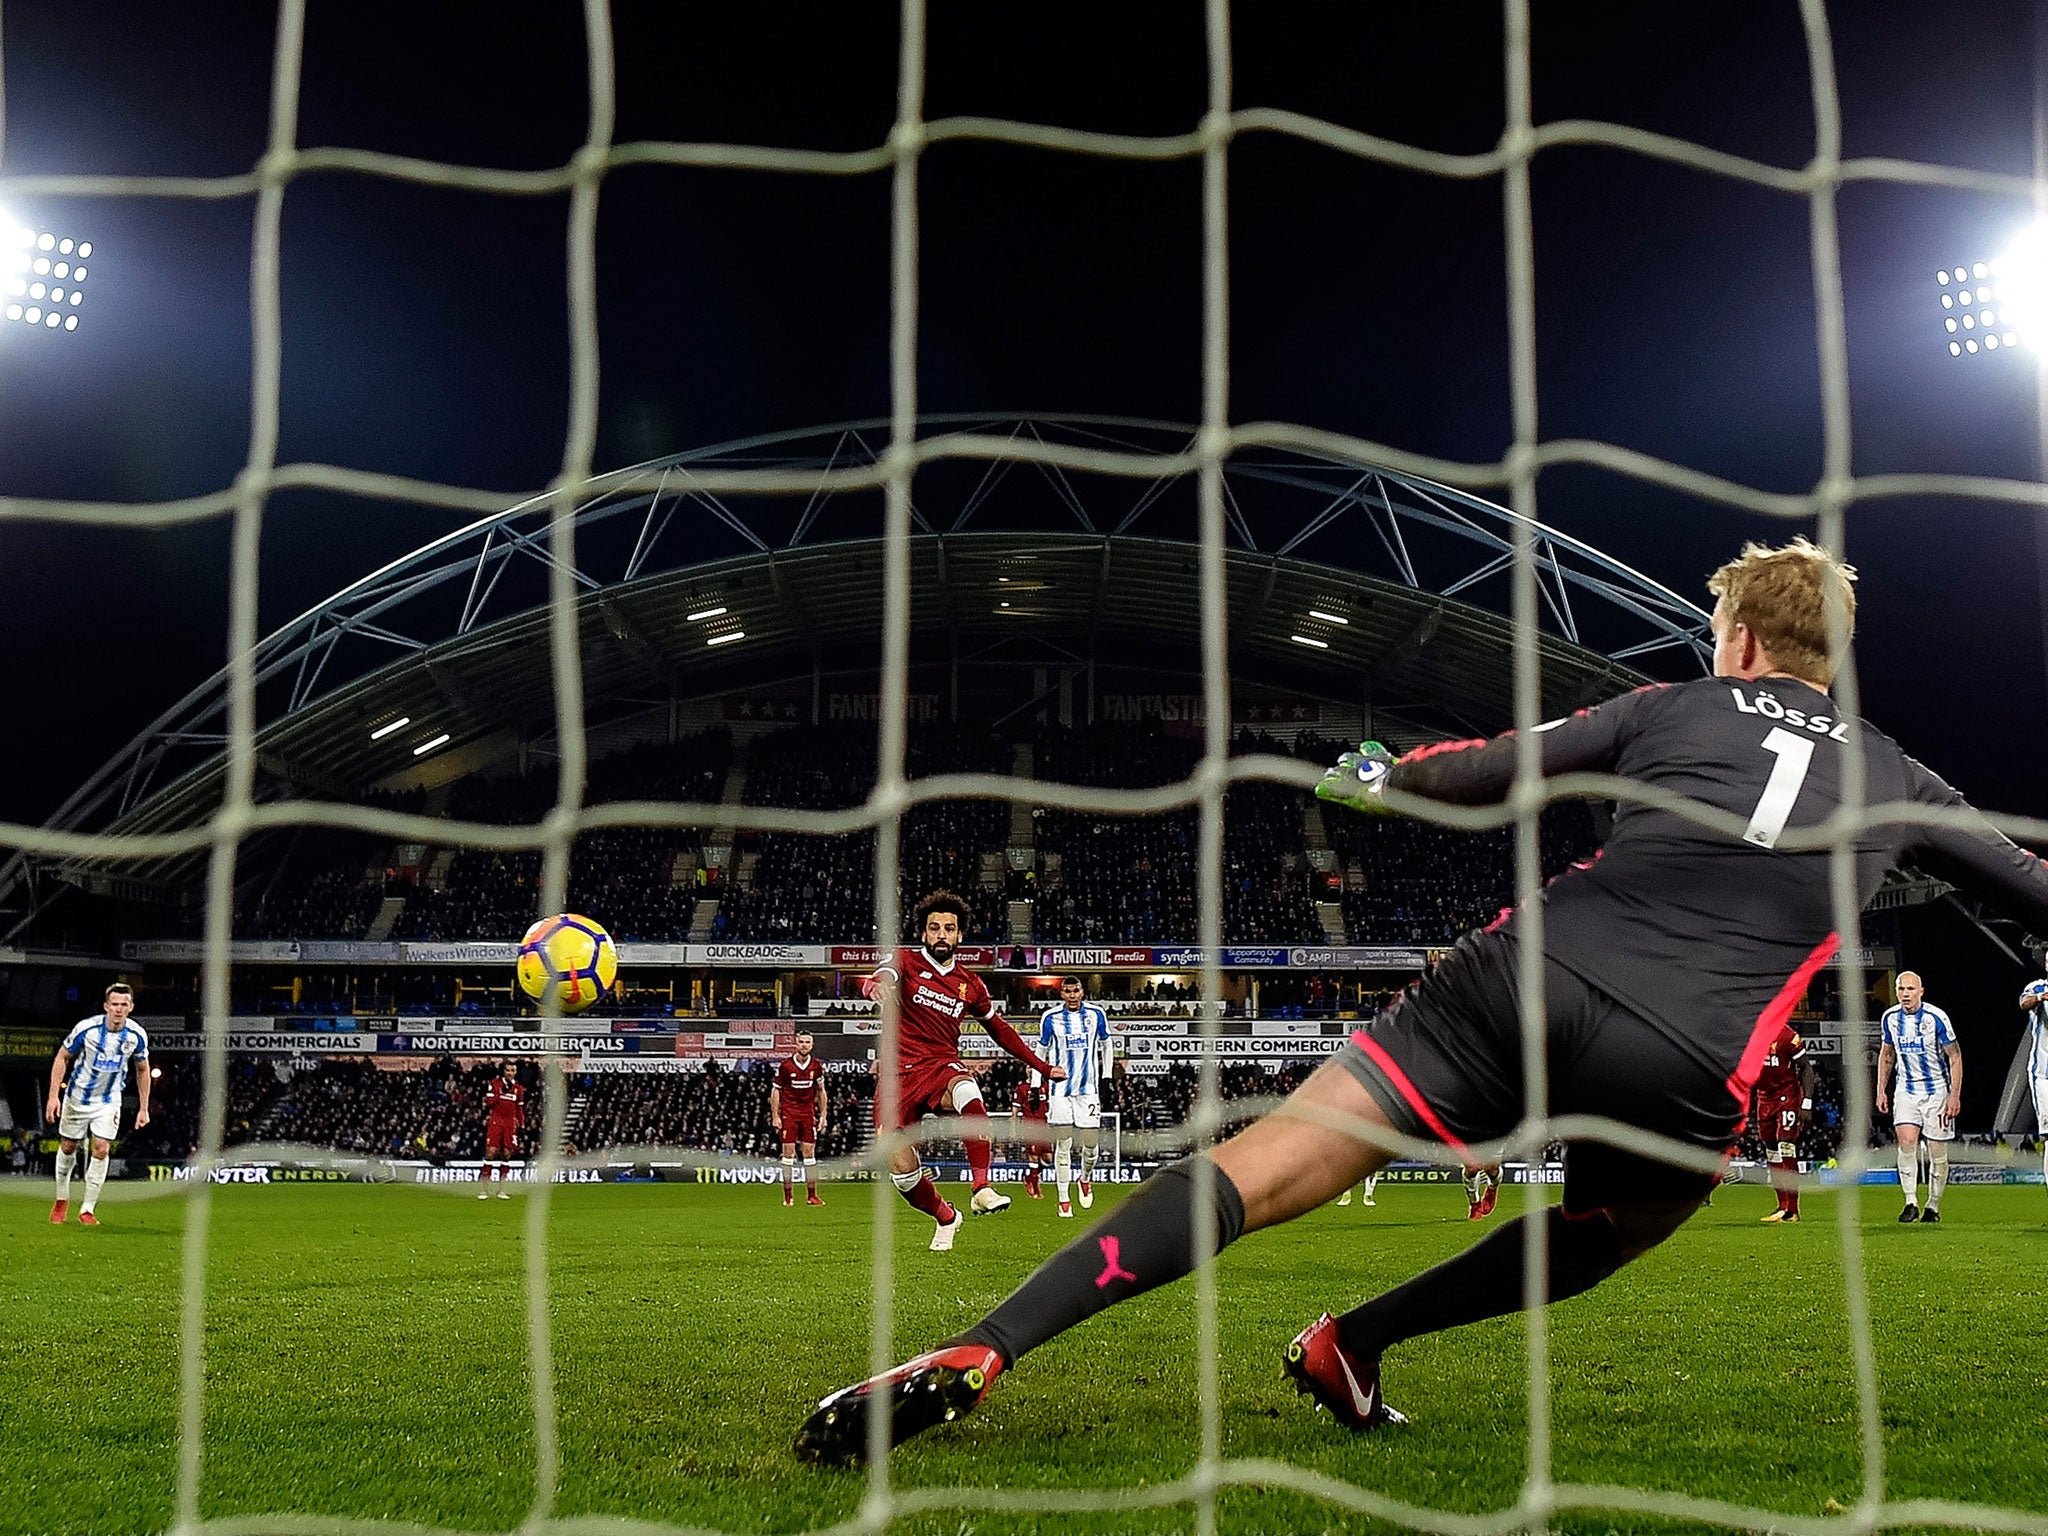
[[[1174,457],[1194,428],[1124,418],[940,416],[920,438],[1001,436],[1044,459]],[[879,664],[883,504],[872,487],[731,498],[711,475],[872,467],[885,422],[676,455],[596,483],[575,514],[586,719],[811,672]],[[629,483],[655,489],[631,489]],[[1511,719],[1507,567],[1516,514],[1358,461],[1288,451],[1225,467],[1233,676],[1370,705],[1395,737]],[[1198,672],[1194,477],[1090,475],[963,459],[915,481],[913,666],[1139,666]],[[1702,672],[1708,616],[1567,535],[1530,524],[1546,713],[1645,678]],[[260,799],[338,797],[403,778],[414,750],[475,768],[553,733],[545,498],[342,588],[256,653]],[[225,670],[166,711],[51,817],[68,831],[193,827],[219,805]],[[406,719],[395,731],[381,727]],[[1386,729],[1386,727],[1382,727]],[[465,756],[465,748],[469,750]],[[483,754],[483,756],[479,756]],[[451,768],[453,772],[453,768]],[[203,854],[131,862],[180,881]],[[0,868],[20,909],[31,860]],[[104,868],[104,866],[102,866]],[[33,913],[31,893],[27,909]]]

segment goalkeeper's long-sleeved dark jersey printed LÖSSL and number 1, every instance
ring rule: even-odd
[[[1841,803],[1847,729],[1833,700],[1794,678],[1700,678],[1642,688],[1542,731],[1546,774],[1612,772],[1704,801],[1743,838],[1622,805],[1608,844],[1544,891],[1544,950],[1587,983],[1696,1049],[1733,1061],[1774,1001],[1835,952],[1825,848],[1786,850],[1790,827]],[[1962,795],[1864,725],[1864,801],[1960,807]],[[1505,797],[1513,733],[1407,754],[1391,788],[1462,805]],[[1911,862],[2048,934],[2048,866],[1968,813],[1968,825],[1874,825],[1855,840],[1860,903]],[[1520,920],[1503,913],[1509,928]],[[1733,1055],[1731,1055],[1733,1047]]]

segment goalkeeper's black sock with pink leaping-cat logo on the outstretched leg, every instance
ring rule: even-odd
[[[1214,1167],[1217,1251],[1245,1229],[1245,1202]],[[1010,1300],[950,1343],[987,1343],[1004,1364],[1104,1307],[1194,1270],[1194,1159],[1147,1180],[1128,1200],[1067,1243]]]

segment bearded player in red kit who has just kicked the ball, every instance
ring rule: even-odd
[[[963,897],[950,891],[928,895],[918,903],[913,915],[924,946],[899,948],[893,958],[883,961],[872,975],[860,981],[860,991],[868,997],[885,997],[895,989],[901,999],[895,1124],[885,1126],[877,1120],[877,1130],[903,1130],[918,1124],[920,1114],[977,1116],[977,1122],[969,1126],[971,1135],[961,1137],[967,1145],[967,1167],[975,1180],[975,1196],[969,1204],[977,1214],[993,1214],[1010,1206],[1010,1196],[995,1194],[989,1184],[987,1120],[979,1118],[985,1114],[981,1085],[961,1065],[961,1020],[977,1020],[995,1044],[1032,1071],[1053,1079],[1067,1073],[1032,1055],[1024,1038],[995,1012],[995,1001],[981,985],[981,977],[954,965],[952,956],[961,948],[961,926],[967,915],[969,905]],[[938,1223],[938,1231],[932,1233],[932,1251],[950,1249],[965,1217],[940,1196],[938,1182],[918,1157],[915,1143],[903,1143],[889,1155],[889,1171],[903,1198]]]

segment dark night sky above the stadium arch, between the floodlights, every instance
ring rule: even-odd
[[[1114,12],[1108,20],[1104,12]],[[195,14],[211,25],[195,27]],[[2032,170],[2034,8],[1835,6],[1845,152]],[[260,4],[8,4],[0,172],[233,174],[268,123]],[[1237,104],[1434,150],[1503,125],[1497,4],[1260,4]],[[895,113],[895,8],[616,4],[618,131],[854,150]],[[1182,133],[1206,98],[1198,4],[936,4],[926,115]],[[1597,117],[1798,166],[1812,106],[1790,2],[1534,6],[1536,119]],[[313,0],[301,145],[541,168],[586,123],[573,4]],[[1614,150],[1536,162],[1542,432],[1784,492],[1821,463],[1808,211]],[[156,500],[227,485],[248,442],[252,201],[27,201],[98,252],[74,336],[0,332],[0,492]],[[881,416],[889,176],[637,168],[600,213],[598,467]],[[565,197],[307,176],[285,213],[283,461],[528,492],[567,420]],[[1200,168],[987,143],[922,168],[924,410],[1200,410]],[[1841,197],[1855,469],[2032,477],[2025,358],[1950,358],[1937,266],[2028,211],[1948,190]],[[1237,420],[1286,418],[1456,459],[1509,440],[1499,180],[1446,182],[1274,135],[1231,152]],[[1704,598],[1772,524],[1591,469],[1544,520]],[[272,500],[262,623],[467,518]],[[2038,514],[1851,512],[1866,715],[1974,801],[2048,815]],[[223,659],[225,522],[0,524],[16,737],[0,819],[39,821]],[[29,684],[23,709],[20,686]]]

